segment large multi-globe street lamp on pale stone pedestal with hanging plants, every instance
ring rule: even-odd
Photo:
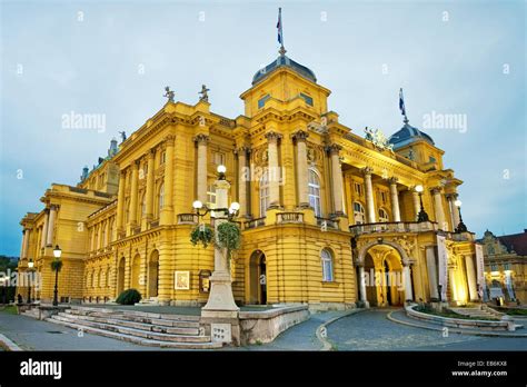
[[[226,180],[225,166],[218,167],[218,179],[215,182],[216,188],[216,206],[217,208],[208,208],[201,201],[196,200],[192,204],[196,214],[201,218],[207,212],[212,211],[215,218],[215,234],[218,227],[231,221],[240,209],[238,202],[232,202],[228,207],[228,190],[230,183]],[[227,249],[215,244],[215,271],[210,276],[210,294],[207,305],[201,309],[201,316],[206,318],[237,318],[239,307],[235,302],[232,295],[232,279],[227,264]]]

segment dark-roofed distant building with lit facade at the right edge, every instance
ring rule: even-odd
[[[485,279],[490,299],[527,302],[527,229],[496,237],[489,230],[483,239]]]

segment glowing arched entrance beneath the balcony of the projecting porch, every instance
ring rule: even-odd
[[[364,252],[366,300],[370,306],[389,307],[405,304],[402,257],[387,244],[375,244]]]

